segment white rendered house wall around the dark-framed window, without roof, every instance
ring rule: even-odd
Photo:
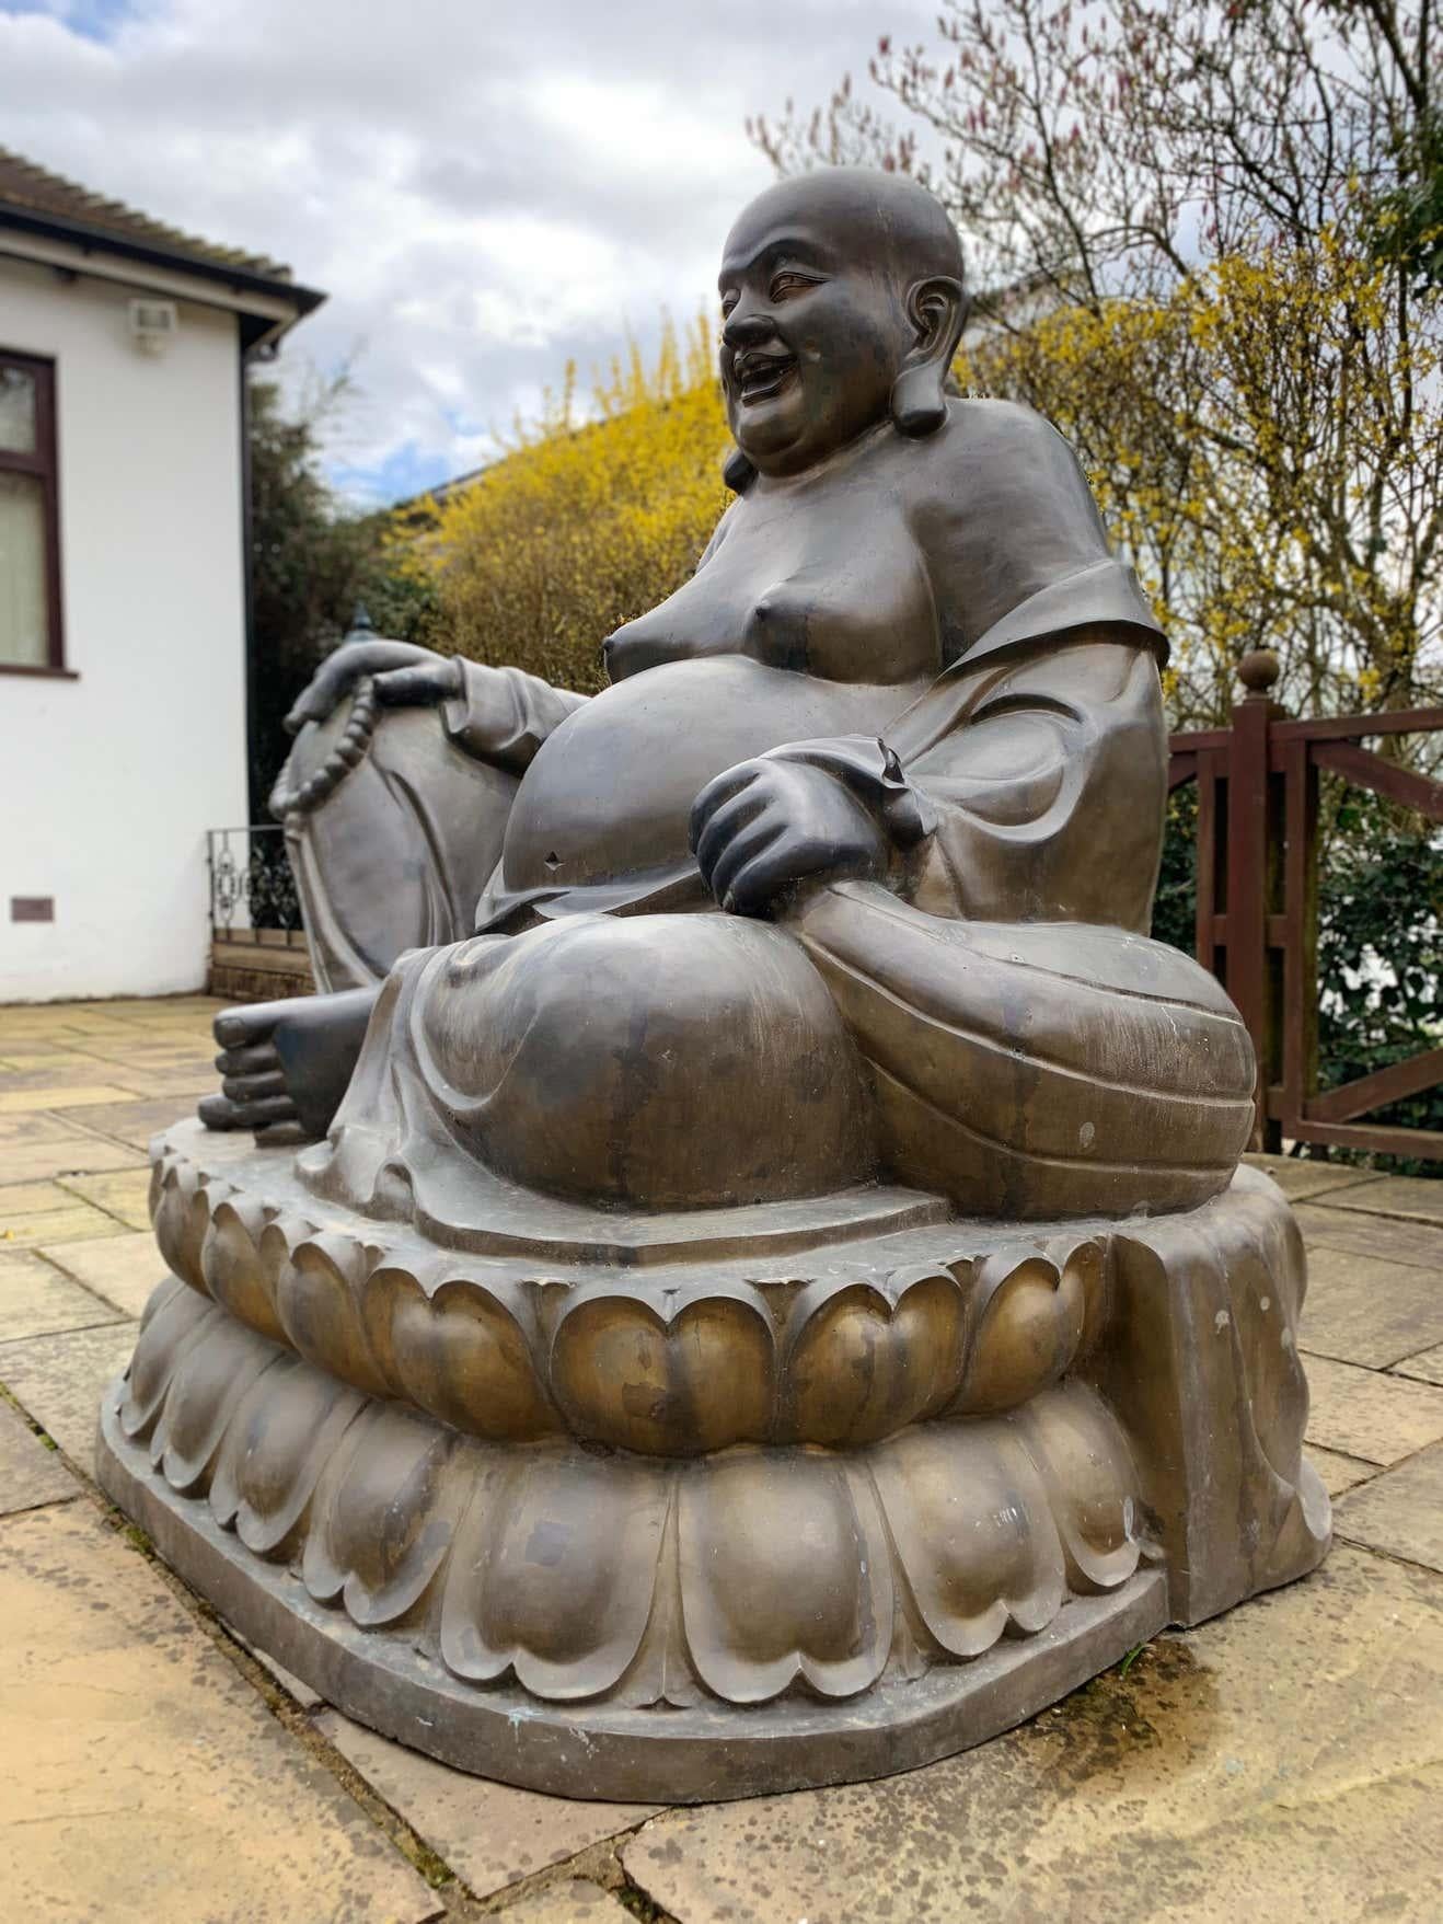
[[[246,820],[237,317],[0,260],[0,348],[56,362],[65,666],[0,671],[0,1002],[206,979],[206,829]],[[54,924],[10,899],[54,897]]]

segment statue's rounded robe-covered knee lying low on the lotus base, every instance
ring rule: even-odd
[[[429,999],[427,1045],[454,1126],[500,1174],[654,1210],[872,1172],[856,1049],[779,929],[585,916],[468,949]]]

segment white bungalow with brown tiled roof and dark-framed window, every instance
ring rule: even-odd
[[[206,981],[246,804],[246,360],[323,294],[0,150],[0,1002]]]

